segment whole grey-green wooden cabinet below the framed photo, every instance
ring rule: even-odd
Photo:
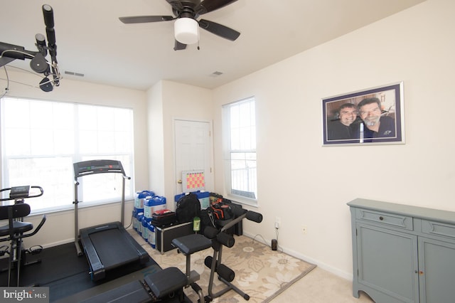
[[[377,303],[455,298],[455,213],[355,199],[353,296]]]

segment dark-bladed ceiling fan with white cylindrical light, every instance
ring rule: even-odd
[[[166,0],[172,6],[174,16],[129,16],[119,17],[123,23],[149,23],[172,21],[174,23],[174,50],[183,50],[187,44],[199,41],[198,27],[217,36],[235,41],[240,36],[238,31],[205,19],[196,20],[200,15],[210,13],[237,0]]]

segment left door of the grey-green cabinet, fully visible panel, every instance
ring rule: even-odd
[[[417,236],[358,223],[358,282],[375,302],[419,302]]]

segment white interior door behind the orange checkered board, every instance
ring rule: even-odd
[[[174,120],[176,194],[183,193],[182,171],[204,171],[205,191],[213,191],[211,123]]]

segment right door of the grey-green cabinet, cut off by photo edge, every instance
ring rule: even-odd
[[[455,244],[419,237],[420,302],[455,299]]]

